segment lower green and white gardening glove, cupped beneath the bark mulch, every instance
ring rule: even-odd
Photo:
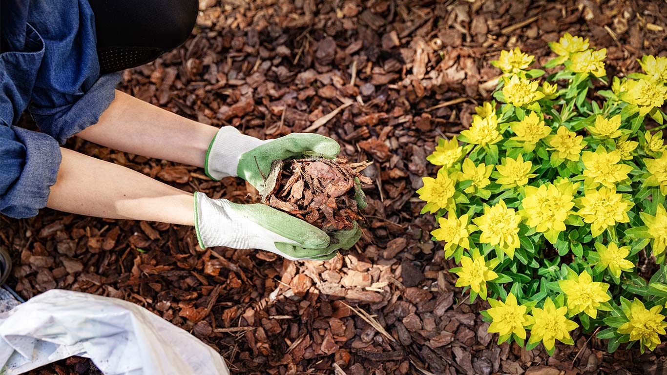
[[[361,237],[352,230],[329,235],[284,212],[263,204],[235,204],[195,193],[195,230],[201,248],[227,246],[261,249],[289,260],[329,260],[336,250],[349,249]]]

